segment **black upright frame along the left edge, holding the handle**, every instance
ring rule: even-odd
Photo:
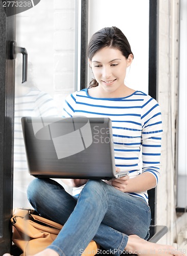
[[[15,16],[6,17],[0,1],[0,256],[10,252],[13,191],[13,116],[15,61],[8,45],[15,40]]]

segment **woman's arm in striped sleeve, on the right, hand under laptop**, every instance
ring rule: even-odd
[[[148,98],[149,99],[149,98]],[[148,100],[147,99],[147,100]],[[149,190],[159,179],[162,122],[156,100],[150,98],[142,108],[142,174],[128,180],[127,177],[112,180],[112,186],[129,193]]]

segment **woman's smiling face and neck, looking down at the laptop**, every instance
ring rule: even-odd
[[[116,48],[105,47],[96,52],[89,63],[93,75],[99,83],[98,89],[106,94],[123,92],[126,70],[131,65],[132,59],[132,54],[126,59]]]

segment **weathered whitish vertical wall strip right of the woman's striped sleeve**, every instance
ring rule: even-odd
[[[176,237],[176,120],[178,111],[179,0],[159,1],[158,102],[163,121],[161,179],[157,186],[157,224],[169,232],[161,242]],[[179,231],[179,230],[177,230]]]

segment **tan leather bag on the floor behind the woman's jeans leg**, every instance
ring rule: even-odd
[[[42,218],[32,209],[24,208],[13,210],[11,223],[13,226],[12,241],[22,250],[21,256],[33,255],[48,247],[63,227],[56,222]],[[97,249],[99,245],[91,241],[83,255],[95,255]]]

